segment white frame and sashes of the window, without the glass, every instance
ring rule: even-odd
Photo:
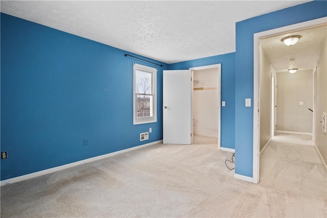
[[[151,87],[153,104],[152,104],[152,116],[148,117],[137,117],[137,94],[136,93],[136,69],[147,71],[152,74]],[[157,122],[157,69],[149,66],[144,66],[141,64],[133,63],[133,125],[137,124],[148,124]]]

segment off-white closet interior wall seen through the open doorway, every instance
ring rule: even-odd
[[[193,91],[193,131],[218,137],[218,68],[196,70],[194,88],[216,88]]]

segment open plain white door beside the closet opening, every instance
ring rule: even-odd
[[[164,70],[163,139],[164,144],[191,144],[192,133],[191,70]]]

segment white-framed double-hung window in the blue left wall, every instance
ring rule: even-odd
[[[157,122],[157,69],[134,63],[133,82],[133,124]]]

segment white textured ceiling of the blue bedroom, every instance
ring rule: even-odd
[[[235,23],[310,1],[1,1],[1,12],[165,63],[235,52]]]

